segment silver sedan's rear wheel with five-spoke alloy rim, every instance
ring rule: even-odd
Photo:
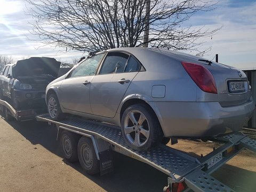
[[[128,107],[121,120],[122,134],[134,150],[146,151],[162,141],[163,132],[154,111],[146,104]]]

